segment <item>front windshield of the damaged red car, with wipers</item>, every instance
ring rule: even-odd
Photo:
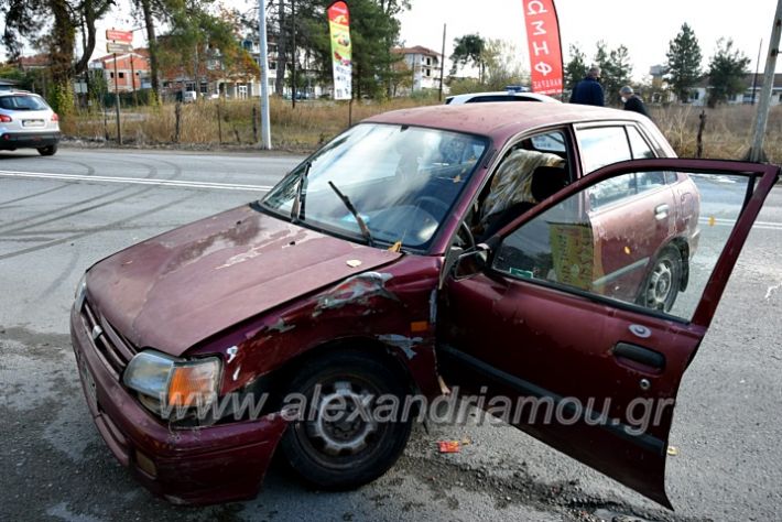
[[[486,151],[487,140],[362,123],[296,167],[262,205],[382,248],[426,250]]]

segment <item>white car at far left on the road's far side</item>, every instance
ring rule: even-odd
[[[0,150],[36,149],[41,155],[57,152],[59,117],[32,93],[0,91]]]

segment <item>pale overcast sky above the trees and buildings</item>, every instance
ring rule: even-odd
[[[400,15],[400,37],[406,46],[423,45],[439,52],[445,23],[446,56],[453,51],[455,37],[479,33],[486,39],[511,42],[518,52],[518,61],[529,69],[522,0],[410,1],[412,9]],[[123,6],[128,2],[118,3]],[[224,0],[224,3],[242,11],[258,4],[251,0]],[[750,68],[754,70],[758,45],[762,39],[762,74],[776,8],[775,0],[555,0],[555,4],[565,62],[568,59],[567,50],[571,44],[577,45],[587,59],[595,55],[599,40],[605,41],[609,48],[624,45],[629,50],[633,65],[632,77],[637,81],[647,77],[652,65],[665,62],[669,43],[685,22],[693,28],[700,43],[704,67],[716,50],[717,40],[730,37],[750,58]],[[106,29],[138,26],[138,22],[120,9],[101,20],[94,57],[105,54]],[[143,31],[133,34],[134,45],[145,45]],[[776,72],[782,72],[782,59],[778,61]]]

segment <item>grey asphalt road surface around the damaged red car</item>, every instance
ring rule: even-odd
[[[254,500],[177,508],[139,487],[89,418],[67,335],[84,270],[262,195],[298,157],[62,149],[0,153],[0,520],[782,518],[782,194],[773,193],[680,392],[676,513],[506,425],[416,428],[384,477],[311,491],[275,467]],[[470,438],[460,454],[435,442]]]

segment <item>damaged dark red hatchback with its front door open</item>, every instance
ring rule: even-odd
[[[370,118],[260,200],[85,274],[95,423],[177,503],[388,470],[443,393],[670,507],[676,391],[779,168],[561,104]]]

